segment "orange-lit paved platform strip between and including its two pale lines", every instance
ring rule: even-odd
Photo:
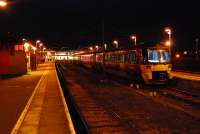
[[[45,64],[42,77],[11,134],[73,134],[74,127],[53,63]]]

